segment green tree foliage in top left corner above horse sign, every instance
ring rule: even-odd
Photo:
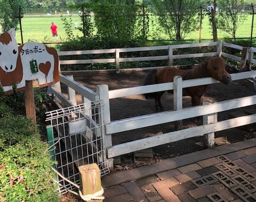
[[[10,28],[17,28],[19,23],[19,6],[23,8],[23,0],[0,0],[0,19],[2,21],[2,31],[6,32]]]

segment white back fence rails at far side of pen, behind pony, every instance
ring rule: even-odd
[[[210,52],[210,53],[173,55],[173,49],[204,47],[204,46],[217,46],[218,51]],[[167,46],[136,47],[136,48],[99,49],[99,50],[91,50],[91,51],[63,51],[63,52],[58,52],[58,54],[59,54],[59,56],[68,56],[68,55],[94,55],[94,54],[113,53],[113,54],[115,54],[114,58],[87,59],[87,60],[60,60],[60,65],[115,63],[116,64],[116,72],[119,73],[119,72],[123,72],[123,71],[131,71],[131,70],[141,71],[141,70],[149,69],[149,68],[120,69],[121,62],[169,60],[169,65],[173,65],[173,60],[175,60],[175,59],[217,56],[221,53],[221,46],[222,46],[222,43],[211,42],[211,43],[181,44],[181,45],[167,45]],[[120,53],[161,51],[161,50],[168,51],[168,55],[147,56],[147,57],[120,57]],[[162,66],[151,67],[150,69],[153,69],[153,68],[162,68]]]

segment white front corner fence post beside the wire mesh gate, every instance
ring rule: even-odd
[[[111,134],[106,134],[105,125],[109,124],[110,121],[110,106],[109,106],[109,96],[108,96],[108,85],[97,85],[97,93],[99,94],[99,98],[103,100],[103,106],[100,107],[100,125],[101,132],[103,138],[103,148],[106,151],[109,147],[112,146],[112,136]],[[107,158],[107,154],[105,152],[104,158],[107,161],[107,166],[109,170],[114,169],[113,158]]]

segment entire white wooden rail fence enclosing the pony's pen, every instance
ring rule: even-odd
[[[172,55],[172,50],[174,48],[185,48],[185,47],[201,47],[201,46],[217,46],[218,51],[212,53],[197,53],[197,54],[183,54],[183,55]],[[229,48],[235,48],[242,50],[243,47],[227,44],[227,43],[203,43],[203,44],[183,44],[183,45],[171,45],[171,46],[160,46],[160,47],[140,47],[140,48],[118,48],[118,49],[108,49],[106,50],[94,50],[94,51],[77,51],[77,52],[60,52],[60,55],[74,55],[74,54],[99,54],[99,53],[116,53],[116,58],[111,59],[99,59],[99,60],[73,60],[73,61],[60,61],[60,64],[81,64],[81,63],[91,63],[91,62],[116,62],[116,71],[119,72],[119,62],[127,61],[148,61],[148,60],[169,60],[172,64],[172,60],[177,58],[187,58],[187,57],[205,57],[205,56],[215,56],[222,55],[223,57],[230,58],[236,61],[242,61],[241,58],[230,55],[227,53],[222,53],[222,46]],[[151,48],[151,49],[150,49]],[[153,57],[133,57],[133,58],[119,58],[120,52],[134,52],[134,51],[149,51],[149,50],[162,50],[169,49],[168,56],[153,56]],[[253,59],[253,53],[255,53],[256,48],[250,48],[247,59],[252,64],[256,64],[256,60]],[[232,80],[240,80],[256,77],[256,71],[250,72],[241,72],[236,74],[231,74]],[[225,130],[228,128],[239,127],[241,125],[250,124],[256,122],[256,115],[249,115],[244,117],[238,117],[235,119],[230,119],[226,121],[217,122],[217,119],[212,117],[217,117],[218,112],[232,110],[239,107],[250,106],[256,104],[256,96],[244,97],[239,99],[225,100],[223,102],[189,107],[182,110],[182,88],[209,85],[212,83],[217,83],[219,81],[212,78],[203,78],[203,79],[194,79],[182,81],[181,77],[175,77],[174,82],[170,83],[161,83],[157,85],[149,86],[140,86],[133,88],[125,89],[116,89],[108,90],[107,85],[98,85],[97,93],[92,90],[79,85],[79,83],[73,81],[70,78],[67,78],[61,75],[61,83],[68,86],[69,88],[69,99],[61,94],[60,87],[53,87],[54,95],[67,106],[75,104],[75,92],[81,94],[84,97],[84,100],[97,100],[102,99],[105,103],[103,108],[103,117],[102,121],[105,125],[105,128],[102,129],[102,134],[105,137],[105,147],[107,148],[107,157],[109,167],[113,167],[113,161],[111,158],[119,156],[122,154],[127,154],[130,152],[135,152],[137,150],[146,149],[150,147],[155,147],[158,145],[166,144],[169,142],[186,139],[190,137],[195,137],[200,134],[207,134],[206,139],[208,140],[207,144],[209,147],[212,147],[214,144],[214,132]],[[174,90],[174,110],[179,111],[167,111],[161,113],[154,113],[148,115],[142,115],[137,117],[131,117],[129,119],[122,119],[111,121],[110,120],[110,107],[109,100],[124,96],[146,94],[149,92],[164,91],[164,90]],[[75,91],[75,92],[74,92]],[[70,93],[71,92],[71,93]],[[182,119],[188,119],[190,117],[204,116],[204,125],[183,129],[179,131],[169,132],[161,134],[155,137],[144,138],[141,140],[135,140],[132,142],[126,142],[120,145],[112,145],[111,134],[118,133],[122,131],[129,131],[133,129],[139,129],[143,127],[149,127],[151,125],[157,125],[167,122],[178,121]]]

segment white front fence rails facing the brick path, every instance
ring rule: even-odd
[[[231,74],[231,78],[233,81],[252,78],[252,77],[256,77],[256,71]],[[181,81],[181,77],[176,77],[174,79],[174,82],[160,83],[156,85],[140,86],[140,87],[133,87],[133,88],[125,88],[125,89],[117,89],[117,90],[108,90],[107,85],[100,85],[102,89],[100,91],[100,98],[105,97],[104,102],[109,103],[109,99],[120,98],[120,97],[131,96],[131,95],[146,94],[149,92],[156,92],[156,91],[163,91],[163,90],[174,90],[174,94],[180,95],[180,96],[174,96],[173,105],[182,107],[182,88],[209,85],[217,82],[219,81],[214,80],[212,78]],[[174,86],[177,86],[177,88],[174,89]],[[154,113],[154,114],[136,116],[136,117],[116,120],[116,121],[110,120],[110,110],[108,108],[106,109],[104,114],[106,117],[108,117],[108,123],[106,123],[106,135],[111,136],[111,134],[113,133],[124,132],[124,131],[144,128],[144,127],[150,127],[153,125],[158,125],[158,124],[163,124],[163,123],[168,123],[168,122],[173,122],[173,121],[178,121],[183,119],[189,119],[191,117],[218,113],[218,112],[227,111],[227,110],[244,107],[244,106],[250,106],[250,105],[256,104],[255,102],[256,102],[256,97],[252,96],[252,97],[241,98],[241,99],[226,100],[226,101],[209,105],[209,106],[190,107],[185,110],[181,110],[180,108],[179,111]],[[234,126],[233,124],[233,127],[238,127],[240,126],[239,124],[240,123],[237,123],[236,126]],[[247,124],[249,124],[249,122]],[[207,130],[204,129],[204,127],[199,127],[199,128],[198,129],[201,131],[201,133],[196,133],[196,134],[193,133],[193,137],[198,136],[198,134],[206,134],[206,133],[214,132],[214,131],[207,132]],[[225,130],[225,129],[222,129],[222,130]],[[197,130],[197,129],[191,129],[190,132],[193,132],[194,130]],[[189,129],[181,130],[181,131],[187,132],[189,131]],[[110,146],[109,144],[108,157],[110,158],[110,157],[115,157],[122,154],[130,153],[131,150],[135,152],[138,148],[145,149],[145,148],[153,147],[152,145],[157,146],[157,145],[166,144],[172,141],[177,141],[177,139],[175,138],[173,139],[169,137],[169,135],[174,137],[177,136],[179,137],[178,139],[180,139],[181,138],[180,133],[182,133],[181,131],[172,132],[170,134],[166,133],[156,137],[151,137],[149,139],[145,138],[143,140],[134,141],[134,142],[141,142],[141,141],[144,142],[142,144],[143,146],[141,146],[141,144],[139,143],[138,147],[135,147],[133,145],[133,142],[127,142],[125,144],[121,144],[117,146]],[[169,137],[169,140],[166,140],[164,138],[164,141],[156,141],[158,139],[162,139],[161,137],[166,137],[166,136]],[[187,138],[187,136],[185,136],[185,138]],[[185,138],[181,138],[181,139],[185,139]],[[157,142],[159,142],[159,144]],[[137,144],[137,143],[134,143],[134,144]],[[130,147],[130,145],[133,145],[133,146]]]

